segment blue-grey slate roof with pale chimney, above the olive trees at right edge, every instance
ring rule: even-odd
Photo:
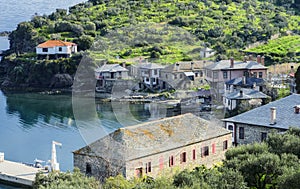
[[[281,129],[300,127],[300,114],[294,113],[294,106],[299,104],[300,95],[292,94],[237,116],[223,119],[223,121]],[[276,124],[274,125],[270,125],[270,108],[272,107],[276,107]]]

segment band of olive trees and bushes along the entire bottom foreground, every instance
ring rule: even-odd
[[[284,134],[271,133],[261,143],[241,145],[228,150],[223,164],[213,168],[197,167],[178,172],[173,177],[126,180],[110,177],[104,189],[204,188],[204,189],[290,189],[300,185],[300,129],[291,128]],[[76,178],[76,179],[75,179]],[[97,188],[92,178],[74,174],[38,175],[35,188]],[[55,188],[54,187],[54,188]]]

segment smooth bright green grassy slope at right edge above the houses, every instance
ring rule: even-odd
[[[300,61],[300,36],[285,36],[246,50],[248,53],[264,54],[276,63]]]

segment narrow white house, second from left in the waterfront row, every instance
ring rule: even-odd
[[[159,90],[160,70],[164,66],[155,63],[138,63],[130,68],[130,75],[140,80],[139,89]]]

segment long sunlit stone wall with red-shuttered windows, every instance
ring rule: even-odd
[[[223,142],[226,140],[228,141],[228,148],[230,148],[232,146],[231,133],[218,138],[202,141],[200,143],[187,145],[178,149],[127,161],[126,178],[130,179],[133,177],[137,177],[137,170],[142,171],[142,176],[148,175],[155,178],[160,175],[172,175],[175,172],[183,170],[185,168],[192,169],[200,165],[211,167],[216,163],[220,163],[224,159],[226,150],[223,150]],[[215,153],[212,153],[213,144],[215,144]],[[203,148],[204,146],[209,147],[209,155],[202,157],[201,148]],[[193,159],[193,150],[195,150],[195,159]],[[183,152],[186,153],[186,162],[181,162],[181,154]],[[169,165],[171,156],[174,157],[173,166]],[[146,173],[146,164],[148,164],[149,162],[151,162],[151,172],[147,171]]]

